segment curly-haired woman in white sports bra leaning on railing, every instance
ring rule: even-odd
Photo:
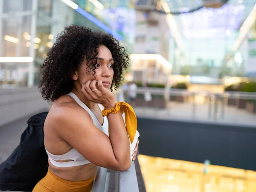
[[[130,142],[121,112],[102,117],[103,108],[115,108],[111,91],[127,67],[125,48],[112,35],[82,26],[68,26],[58,35],[39,85],[44,99],[56,100],[44,124],[49,170],[33,192],[88,192],[97,166],[129,169]],[[133,160],[137,149],[138,143]]]

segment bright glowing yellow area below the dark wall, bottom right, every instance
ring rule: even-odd
[[[255,192],[256,172],[139,155],[147,192]]]

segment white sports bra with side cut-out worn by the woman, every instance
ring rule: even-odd
[[[83,103],[81,102],[81,100],[72,92],[68,93],[67,95],[71,96],[73,99],[75,99],[75,101],[82,107],[84,108],[92,117],[93,119],[93,124],[99,128],[100,130],[102,130],[105,134],[108,135],[108,118],[107,116],[103,117],[103,125],[101,125],[98,121],[98,119],[96,118],[96,116],[93,114],[92,111],[90,111],[90,109]],[[103,107],[99,105],[100,110],[103,110]],[[52,165],[56,166],[56,167],[73,167],[73,166],[80,166],[80,165],[85,165],[87,163],[90,163],[90,161],[88,161],[87,159],[85,159],[78,151],[76,151],[75,148],[72,148],[70,151],[68,151],[65,154],[62,155],[54,155],[49,153],[49,151],[47,151],[47,149],[45,148],[49,160],[52,163]],[[57,162],[55,160],[73,160],[73,161],[67,161],[67,162]]]

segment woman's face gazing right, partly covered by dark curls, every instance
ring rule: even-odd
[[[105,45],[100,45],[98,48],[99,54],[96,56],[97,58],[97,64],[95,64],[95,74],[93,76],[93,71],[90,70],[89,73],[87,73],[87,61],[84,59],[83,63],[81,64],[81,67],[78,71],[75,72],[73,75],[73,80],[79,80],[79,84],[82,86],[87,81],[92,80],[102,80],[103,86],[105,88],[110,89],[112,80],[113,80],[113,58],[110,50]],[[96,76],[96,77],[95,77]]]

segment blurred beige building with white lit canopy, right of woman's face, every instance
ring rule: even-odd
[[[166,84],[172,71],[169,55],[169,27],[165,15],[144,5],[136,7],[136,37],[131,55],[134,81]]]

